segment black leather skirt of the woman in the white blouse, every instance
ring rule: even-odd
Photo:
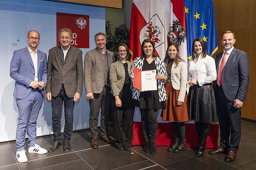
[[[212,84],[193,85],[189,88],[189,120],[217,123],[216,100]]]

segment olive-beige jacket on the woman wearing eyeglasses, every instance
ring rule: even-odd
[[[131,66],[132,63],[129,61],[126,61],[128,64],[128,73],[130,76],[131,72]],[[110,86],[111,86],[111,92],[113,96],[119,95],[119,92],[121,92],[124,81],[125,81],[125,68],[124,64],[121,61],[117,61],[115,63],[112,63],[109,68],[109,78],[110,78]],[[133,89],[132,83],[130,85],[131,91]]]

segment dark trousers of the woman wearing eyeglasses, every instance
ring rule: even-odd
[[[114,119],[114,138],[115,145],[131,146],[133,137],[133,114],[134,114],[134,99],[132,99],[132,92],[130,84],[124,85],[119,98],[122,102],[121,107],[116,106],[116,99],[113,98],[113,119]],[[121,129],[121,123],[123,123]]]

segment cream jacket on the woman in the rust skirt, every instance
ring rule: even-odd
[[[172,87],[175,90],[180,90],[178,101],[184,102],[186,88],[188,84],[188,68],[187,64],[184,61],[179,61],[178,66],[175,68],[175,63],[172,65],[171,70],[171,79]],[[170,74],[170,73],[167,73]]]

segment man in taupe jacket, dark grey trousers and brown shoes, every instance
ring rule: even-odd
[[[91,147],[98,148],[98,115],[101,108],[101,139],[108,144],[113,140],[108,137],[109,109],[111,105],[111,87],[109,67],[115,62],[114,54],[106,49],[106,35],[94,36],[96,48],[86,52],[84,57],[84,87],[90,104]]]

